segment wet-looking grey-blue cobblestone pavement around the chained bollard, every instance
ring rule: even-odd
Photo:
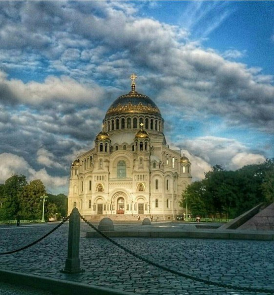
[[[18,249],[56,224],[0,227],[0,252]],[[103,238],[86,238],[81,224],[80,260],[85,272],[64,274],[68,222],[21,252],[0,256],[0,268],[107,287],[135,294],[261,295],[205,285],[148,265]],[[274,241],[190,238],[114,238],[136,254],[182,273],[234,286],[274,290]],[[1,293],[0,293],[1,294]]]

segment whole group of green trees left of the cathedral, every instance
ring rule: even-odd
[[[64,194],[47,194],[40,179],[28,183],[24,175],[12,175],[0,184],[0,220],[41,219],[40,197],[47,195],[45,202],[45,220],[55,217],[60,220],[67,216],[67,197]]]

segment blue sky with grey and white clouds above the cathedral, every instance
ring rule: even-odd
[[[261,163],[273,65],[273,1],[0,1],[0,183],[22,173],[67,193],[133,72],[194,180]]]

